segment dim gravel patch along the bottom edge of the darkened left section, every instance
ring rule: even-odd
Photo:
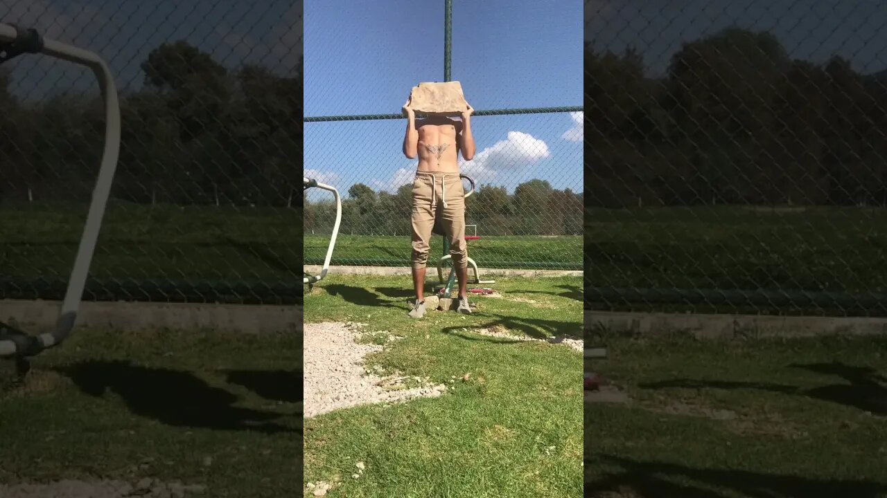
[[[137,483],[124,480],[62,479],[47,484],[0,484],[0,496],[3,498],[184,498],[202,494],[204,491],[205,486],[162,483],[151,478]]]

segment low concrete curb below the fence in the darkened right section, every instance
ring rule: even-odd
[[[685,331],[697,338],[812,337],[887,334],[887,318],[690,315],[585,311],[585,330],[640,335]]]

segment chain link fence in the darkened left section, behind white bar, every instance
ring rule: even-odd
[[[302,3],[0,0],[0,22],[94,51],[122,150],[85,300],[301,296]],[[60,299],[101,156],[91,74],[0,66],[0,298]]]

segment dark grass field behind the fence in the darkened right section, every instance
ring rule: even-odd
[[[887,291],[887,209],[592,209],[595,286]]]

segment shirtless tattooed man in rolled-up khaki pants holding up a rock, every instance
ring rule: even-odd
[[[462,121],[447,117],[429,117],[416,122],[410,105],[404,105],[406,135],[404,156],[415,159],[419,167],[412,182],[412,286],[416,301],[409,315],[425,315],[425,270],[431,230],[439,217],[450,238],[450,254],[459,279],[459,313],[471,313],[468,307],[468,249],[465,244],[465,191],[459,178],[459,151],[464,160],[475,157],[475,137],[471,135],[471,105],[462,111]]]

